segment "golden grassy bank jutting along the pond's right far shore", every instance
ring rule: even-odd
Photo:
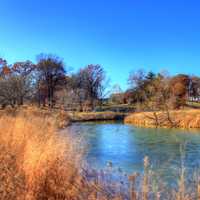
[[[200,128],[200,109],[133,113],[124,122],[140,127]]]

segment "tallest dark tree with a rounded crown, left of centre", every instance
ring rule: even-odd
[[[38,56],[38,100],[47,97],[49,107],[54,105],[54,92],[65,82],[63,61],[53,55],[40,54]],[[45,105],[45,102],[43,101]]]

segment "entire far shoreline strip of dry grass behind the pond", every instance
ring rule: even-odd
[[[51,117],[56,127],[65,128],[72,122],[124,120],[125,124],[140,127],[165,128],[200,128],[200,109],[171,110],[169,112],[137,112],[127,114],[123,112],[69,112],[62,109],[38,107],[7,108],[0,111],[0,115]]]

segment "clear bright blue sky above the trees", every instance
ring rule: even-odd
[[[0,1],[0,57],[35,61],[41,52],[74,70],[101,64],[123,89],[138,68],[200,75],[200,1]]]

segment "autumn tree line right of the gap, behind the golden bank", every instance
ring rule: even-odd
[[[134,104],[139,110],[168,110],[200,101],[200,77],[194,75],[169,76],[140,69],[130,73],[128,84],[127,91],[113,92],[112,103]]]

